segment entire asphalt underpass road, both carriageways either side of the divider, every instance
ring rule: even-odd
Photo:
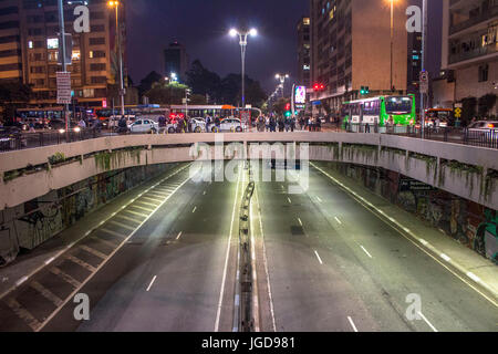
[[[144,191],[0,302],[0,331],[230,332],[247,173],[236,176],[197,181],[187,168]],[[251,207],[263,331],[498,330],[490,302],[325,175],[310,167],[299,195],[274,179],[256,184]],[[61,303],[73,290],[89,295],[89,321]],[[419,308],[408,308],[414,296]]]

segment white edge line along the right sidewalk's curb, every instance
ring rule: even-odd
[[[329,177],[331,180],[333,180],[335,184],[338,184],[339,186],[341,186],[343,189],[345,189],[347,192],[352,194],[353,196],[357,197],[357,194],[354,192],[353,190],[351,190],[349,187],[346,187],[344,184],[342,184],[341,181],[339,181],[336,178],[332,177],[331,175],[329,175],[328,173],[325,173],[323,169],[321,169],[320,167],[317,167],[313,163],[310,163],[311,166],[313,166],[315,169],[318,169],[319,171],[321,171],[323,175],[325,175],[326,177]],[[361,204],[361,202],[360,202]],[[372,204],[366,202],[367,205],[372,206]],[[378,208],[373,207],[374,209],[378,210]],[[383,218],[381,218],[377,214],[373,212],[371,209],[366,208],[367,210],[370,210],[374,216],[376,216],[378,219],[381,219],[382,221],[385,222],[385,220]],[[384,212],[382,212],[384,214]],[[397,227],[403,228],[403,226],[395,221],[394,222]],[[398,231],[397,228],[393,227],[392,225],[387,223],[386,225],[391,226],[394,230]],[[434,257],[428,250],[424,249],[423,247],[421,247],[422,243],[427,248],[432,248],[434,249],[429,242],[427,242],[426,240],[418,238],[415,233],[413,232],[407,232],[411,237],[407,237],[406,235],[404,235],[403,232],[400,232],[400,235],[402,235],[406,240],[408,240],[409,242],[412,242],[416,248],[418,248],[422,252],[424,252],[425,254],[427,254],[428,257],[430,257],[433,260],[435,260],[437,263],[439,263],[442,267],[444,267],[448,272],[450,272],[452,274],[454,274],[456,278],[458,278],[461,282],[464,282],[465,284],[467,284],[469,288],[474,289],[474,291],[476,291],[479,295],[481,295],[483,298],[485,298],[486,300],[488,300],[492,305],[495,305],[496,308],[498,308],[498,303],[492,300],[491,298],[489,298],[488,295],[486,295],[483,291],[480,291],[479,289],[477,289],[476,287],[474,287],[470,282],[467,281],[467,279],[464,279],[463,277],[460,277],[458,273],[456,273],[455,271],[453,271],[450,268],[448,268],[445,263],[443,263],[442,261],[439,261],[438,258]],[[413,239],[412,239],[413,238]],[[416,242],[415,240],[417,240],[418,242]],[[454,262],[452,262],[454,263]],[[459,266],[458,266],[459,267]],[[471,278],[473,274],[471,272],[467,272],[466,275]],[[474,274],[474,277],[476,277]],[[477,278],[478,282],[481,282],[481,280],[479,278]],[[475,280],[476,281],[476,280]],[[484,282],[481,282],[484,283]],[[486,284],[486,283],[484,283]],[[486,284],[487,285],[487,284]]]

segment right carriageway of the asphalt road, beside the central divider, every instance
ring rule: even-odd
[[[277,331],[498,330],[490,302],[317,169],[301,195],[256,189]]]

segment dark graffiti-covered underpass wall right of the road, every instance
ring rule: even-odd
[[[496,210],[382,168],[331,166],[498,263]]]

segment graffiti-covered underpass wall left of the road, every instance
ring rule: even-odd
[[[13,261],[20,251],[34,249],[120,194],[174,166],[104,173],[0,211],[0,267]]]

